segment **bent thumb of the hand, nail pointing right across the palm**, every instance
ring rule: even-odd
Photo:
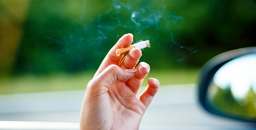
[[[97,84],[94,87],[110,87],[117,80],[127,81],[135,76],[136,71],[136,69],[122,69],[117,65],[110,65],[94,78],[93,82]]]

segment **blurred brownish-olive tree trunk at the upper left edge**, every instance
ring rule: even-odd
[[[15,61],[29,1],[0,1],[0,76],[9,74]]]

